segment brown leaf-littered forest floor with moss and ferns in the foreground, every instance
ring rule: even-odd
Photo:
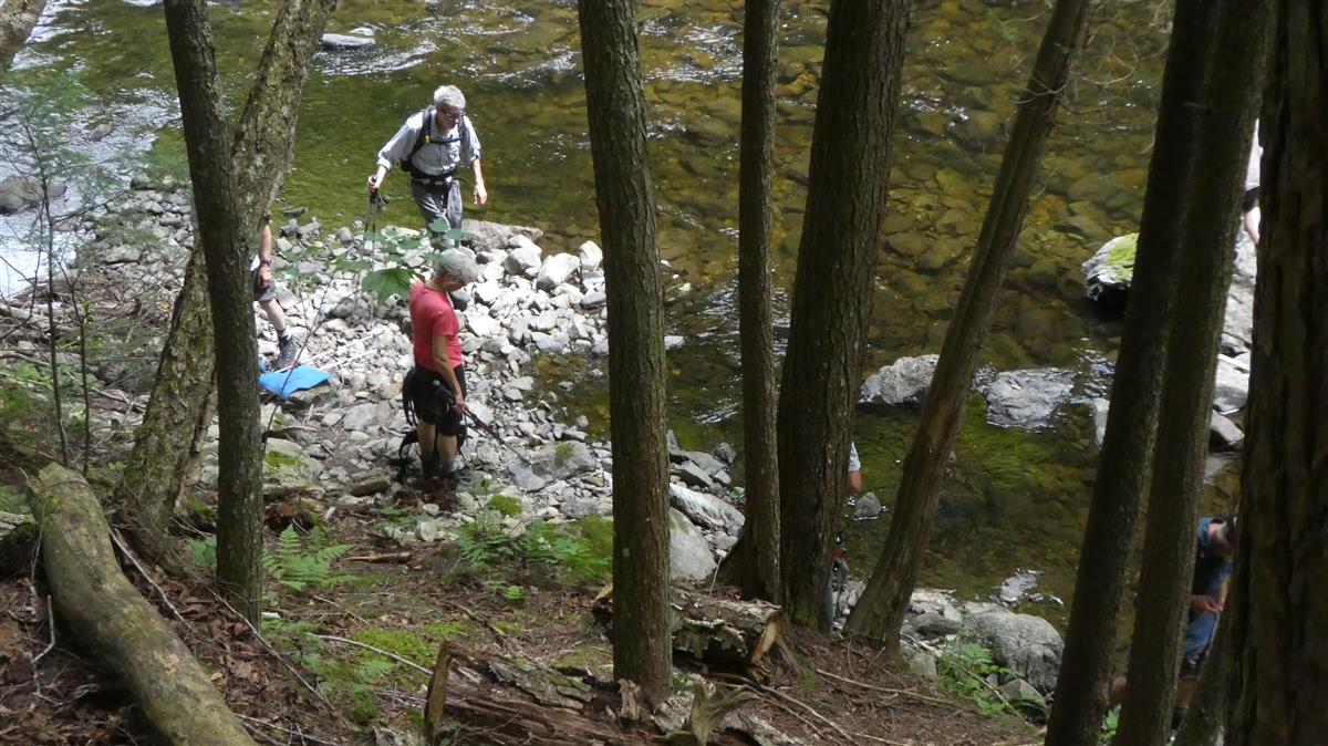
[[[0,453],[0,486],[11,495],[36,466],[15,453]],[[499,544],[479,564],[473,546],[386,544],[374,527],[412,520],[425,500],[448,510],[445,492],[402,492],[390,510],[333,511],[317,535],[295,544],[288,534],[284,550],[276,530],[311,506],[270,506],[268,552],[284,559],[270,567],[259,633],[212,592],[202,542],[182,552],[203,563],[197,572],[154,569],[149,579],[126,564],[126,573],[260,743],[418,742],[412,734],[421,727],[429,681],[421,669],[433,668],[444,641],[611,686],[611,645],[592,611],[598,583],[574,580],[566,567],[507,559]],[[58,613],[52,620],[48,592],[36,561],[0,580],[0,743],[153,742],[129,692]],[[1024,721],[984,714],[871,648],[798,633],[785,638],[761,666],[761,700],[745,709],[758,710],[788,743],[1040,742]],[[703,668],[675,658],[677,672],[703,674]],[[685,677],[675,680],[675,689],[691,688]],[[452,742],[487,741],[471,733]]]

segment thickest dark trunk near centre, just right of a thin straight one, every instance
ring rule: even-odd
[[[780,386],[780,584],[790,624],[823,613],[862,340],[890,182],[904,0],[835,0],[811,134],[806,222]]]

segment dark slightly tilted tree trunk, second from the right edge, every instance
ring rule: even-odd
[[[1139,603],[1130,648],[1129,688],[1117,743],[1163,743],[1171,725],[1181,631],[1194,573],[1195,512],[1203,488],[1212,377],[1226,315],[1240,214],[1242,181],[1254,134],[1267,20],[1263,3],[1222,4],[1208,48],[1207,84],[1187,97],[1199,109],[1193,188],[1158,413],[1149,486]],[[1183,5],[1178,11],[1185,9]],[[1177,27],[1185,21],[1178,17]]]

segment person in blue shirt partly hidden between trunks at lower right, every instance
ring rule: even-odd
[[[1239,532],[1234,518],[1201,518],[1194,547],[1194,580],[1190,583],[1190,611],[1185,625],[1181,653],[1181,680],[1175,689],[1175,711],[1171,727],[1179,727],[1186,708],[1194,697],[1199,668],[1208,656],[1218,631],[1218,619],[1227,601],[1231,583],[1231,559],[1236,554]],[[1126,677],[1112,684],[1112,705],[1125,698]]]

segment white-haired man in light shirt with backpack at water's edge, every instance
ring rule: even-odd
[[[378,167],[369,177],[371,195],[378,191],[394,165],[410,177],[410,196],[436,244],[440,236],[432,226],[438,218],[446,218],[453,228],[461,227],[458,169],[470,166],[475,175],[475,204],[489,202],[479,165],[479,138],[466,117],[466,97],[454,85],[434,90],[433,105],[408,117],[378,150]]]

